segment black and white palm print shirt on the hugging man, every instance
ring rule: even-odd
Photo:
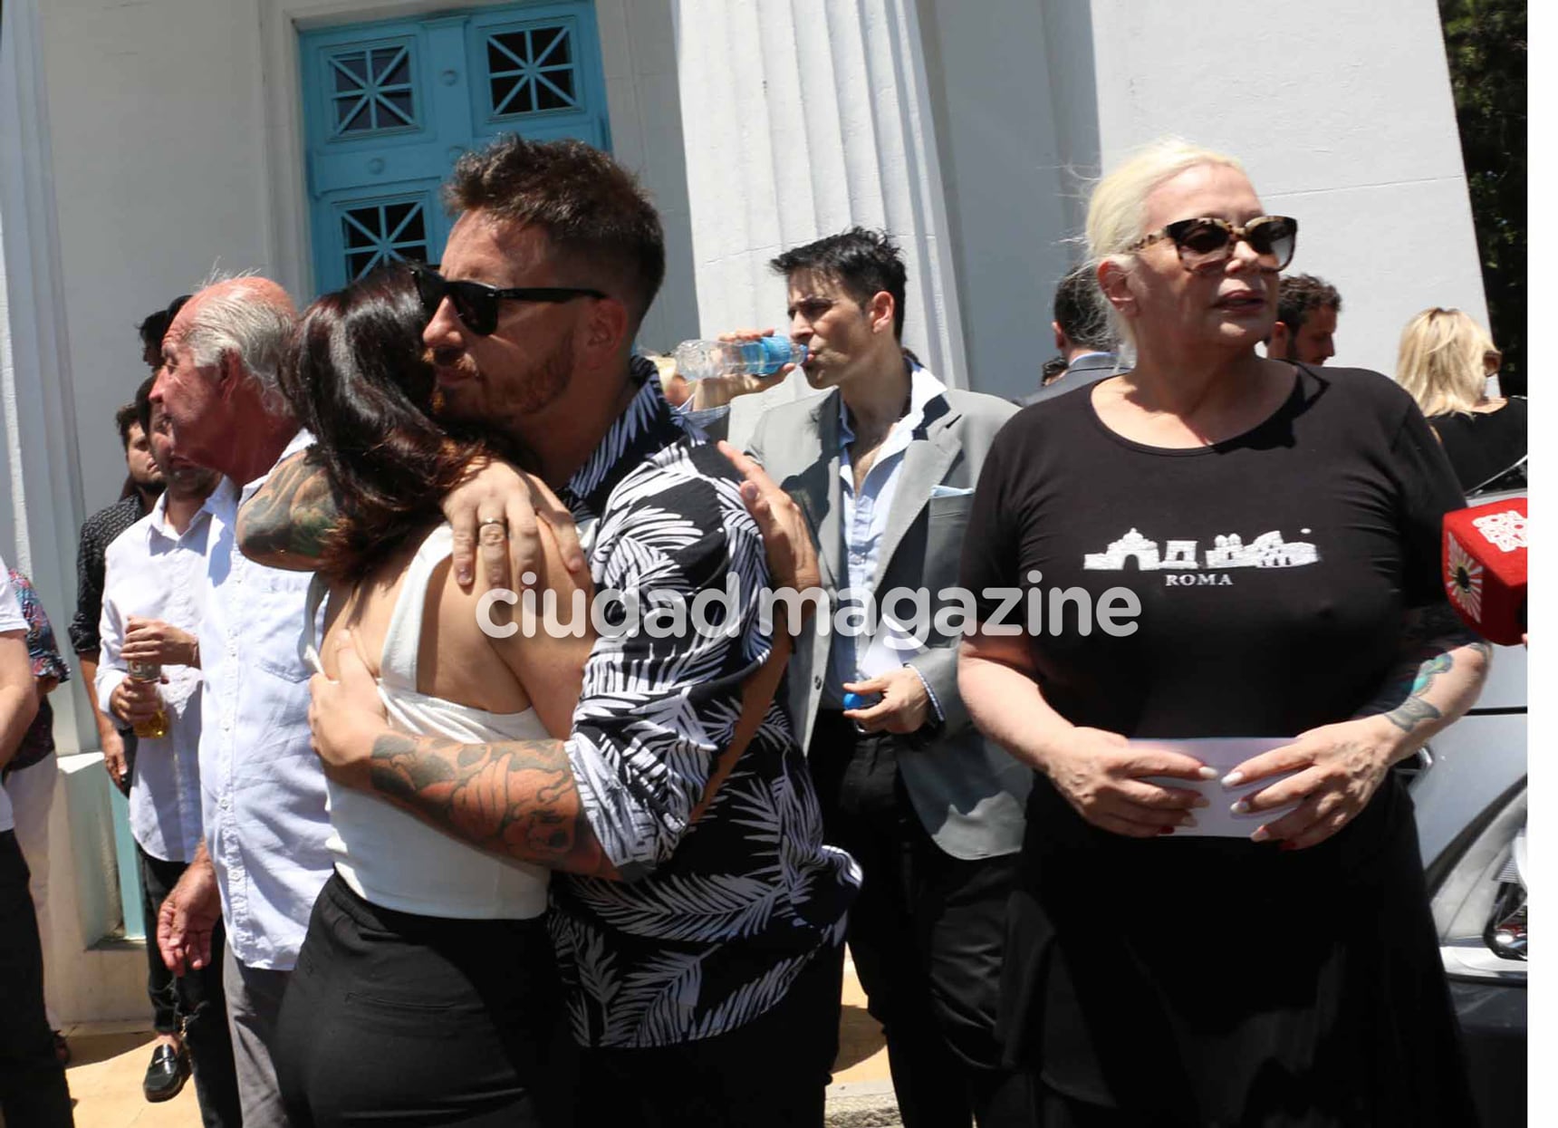
[[[860,885],[854,860],[823,844],[782,689],[690,820],[735,729],[742,682],[771,647],[759,626],[768,564],[735,469],[671,413],[653,365],[634,361],[634,375],[633,404],[562,491],[581,527],[595,522],[597,592],[643,605],[637,633],[603,633],[590,651],[567,740],[590,827],[623,877],[552,882],[573,1033],[592,1047],[670,1045],[757,1017],[843,943]],[[690,609],[732,576],[728,629],[706,637],[689,615],[654,637],[673,622],[650,629],[651,594]]]

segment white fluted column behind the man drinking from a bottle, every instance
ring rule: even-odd
[[[908,265],[904,343],[968,386],[911,0],[673,0],[673,12],[703,332],[779,326],[773,256],[885,227]]]

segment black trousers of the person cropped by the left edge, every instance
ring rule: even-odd
[[[14,830],[0,830],[0,1112],[16,1128],[72,1125],[65,1067],[44,1014],[44,946]]]

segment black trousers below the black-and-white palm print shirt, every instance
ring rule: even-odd
[[[843,949],[823,950],[784,999],[729,1033],[583,1050],[578,1128],[821,1128],[841,975]]]

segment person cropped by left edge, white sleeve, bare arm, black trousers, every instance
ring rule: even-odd
[[[26,654],[26,619],[0,559],[0,767],[16,754],[37,714]],[[44,946],[16,844],[11,799],[0,787],[0,1119],[22,1128],[70,1125],[65,1067],[44,1013]]]

